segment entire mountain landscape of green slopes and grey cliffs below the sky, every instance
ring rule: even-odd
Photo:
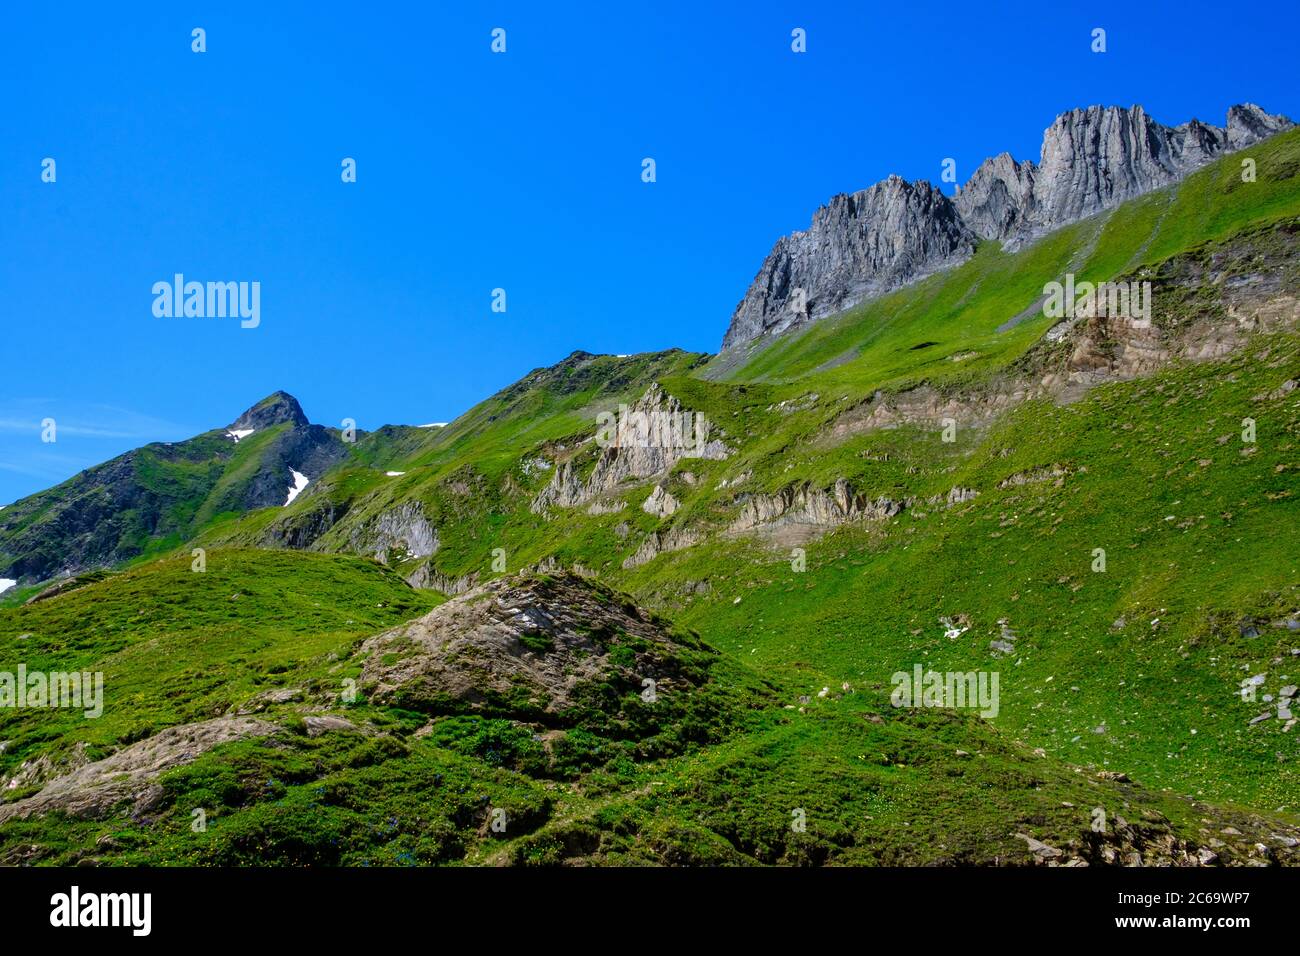
[[[0,864],[1300,864],[1300,129],[1045,137],[716,354],[0,510]]]

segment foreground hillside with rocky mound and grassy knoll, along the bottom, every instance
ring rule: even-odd
[[[282,593],[304,587],[315,600],[286,606]],[[159,611],[122,615],[142,600]],[[1253,845],[1300,834],[1286,821],[1080,775],[975,718],[898,711],[867,688],[783,706],[793,691],[580,578],[512,578],[412,619],[424,607],[365,562],[214,551],[204,575],[150,563],[10,614],[6,656],[26,641],[34,661],[70,663],[55,636],[68,635],[77,666],[126,688],[118,698],[156,704],[126,723],[122,708],[61,727],[5,718],[0,860],[1060,865],[1295,853]],[[359,636],[380,627],[390,630]],[[464,670],[426,633],[480,656]],[[584,659],[588,676],[525,676],[558,656]],[[482,696],[500,679],[524,696]],[[1089,829],[1098,805],[1114,818],[1105,834]]]

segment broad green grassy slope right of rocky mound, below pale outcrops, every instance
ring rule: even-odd
[[[968,432],[937,468],[933,433],[858,438],[845,450],[888,451],[894,470],[928,472],[931,488],[937,477],[982,494],[806,544],[803,574],[789,553],[724,542],[660,557],[624,587],[671,594],[708,579],[715,593],[681,619],[763,672],[801,675],[805,692],[887,684],[913,663],[992,667],[997,723],[1024,740],[1150,784],[1300,809],[1296,737],[1277,721],[1247,727],[1268,705],[1235,696],[1248,675],[1269,674],[1261,693],[1300,678],[1297,635],[1261,627],[1247,640],[1238,628],[1300,606],[1300,414],[1295,399],[1252,401],[1300,375],[1300,342],[1269,346],[1274,368],[1243,356],[1105,386],[1069,407],[1023,406],[988,433]],[[1239,437],[1247,415],[1260,423],[1256,446]],[[1072,472],[1060,488],[997,488],[1053,466]],[[897,493],[870,472],[858,480]],[[1101,574],[1096,548],[1106,550]],[[949,641],[937,619],[957,614],[971,630]],[[1000,619],[1019,635],[1018,653],[994,659]]]

